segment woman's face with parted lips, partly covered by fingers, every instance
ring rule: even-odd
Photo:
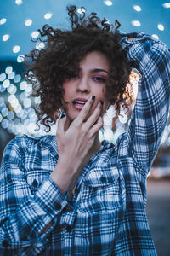
[[[93,51],[80,62],[79,72],[64,82],[65,112],[71,122],[77,118],[90,96],[95,96],[91,113],[100,101],[104,102],[102,113],[105,113],[108,105],[105,98],[105,85],[109,78],[109,70],[110,65],[106,56]]]

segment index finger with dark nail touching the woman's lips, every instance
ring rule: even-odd
[[[82,124],[82,122],[87,118],[88,113],[94,104],[94,99],[95,99],[95,96],[89,97],[88,102],[86,102],[81,112],[78,114],[77,119],[75,119],[75,121],[78,124]]]

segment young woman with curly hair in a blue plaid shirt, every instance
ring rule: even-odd
[[[1,255],[156,255],[146,177],[167,122],[168,49],[75,6],[68,13],[71,30],[43,26],[45,48],[29,55],[38,119],[50,129],[65,115],[56,137],[15,137],[4,151]],[[106,108],[127,107],[131,67],[142,79],[130,127],[116,145],[100,143]]]

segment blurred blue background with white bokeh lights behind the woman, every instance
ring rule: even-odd
[[[41,50],[44,44],[33,43],[44,24],[62,29],[70,28],[66,13],[68,4],[76,4],[88,14],[97,12],[114,24],[119,20],[122,32],[145,32],[160,39],[170,48],[170,2],[162,0],[0,0],[0,162],[3,149],[15,136],[45,135],[43,127],[35,131],[35,106],[40,100],[31,97],[31,84],[26,83],[23,56],[31,49]],[[131,74],[134,101],[131,109],[116,116],[114,108],[105,114],[104,130],[100,139],[112,143],[127,131],[138,91],[139,75]],[[50,133],[55,134],[56,125]],[[170,117],[161,140],[161,148],[148,177],[147,213],[151,234],[158,255],[170,255]]]

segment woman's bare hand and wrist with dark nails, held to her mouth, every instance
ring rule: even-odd
[[[83,166],[87,164],[90,148],[94,144],[96,134],[103,126],[101,102],[88,117],[93,104],[94,100],[90,97],[71,125],[67,117],[59,120],[57,129],[59,160],[51,173],[51,178],[64,194],[71,183],[71,178],[80,172],[80,169],[82,171]]]

